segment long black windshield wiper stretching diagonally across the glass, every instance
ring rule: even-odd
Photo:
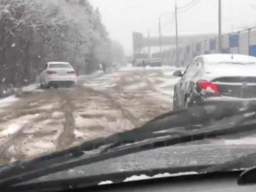
[[[225,113],[224,111],[221,114],[219,111],[216,113],[216,109],[196,107],[187,111],[165,114],[145,124],[141,128],[118,133],[108,138],[85,142],[78,147],[43,156],[12,167],[2,167],[0,171],[0,186],[15,185],[43,175],[130,153],[250,131],[255,129],[256,125],[256,121],[254,120],[255,115],[244,115],[250,111],[255,110],[251,108],[238,113],[234,113],[233,111],[232,113]],[[231,114],[236,114],[236,116],[230,117]],[[193,126],[198,123],[208,123],[212,119],[218,119],[219,121],[217,122],[225,122],[225,118],[236,120],[235,125],[230,125],[228,122],[231,119],[228,119],[226,123],[223,123],[223,125],[220,123],[215,128],[211,124],[199,129],[198,127],[194,129]],[[246,122],[244,121],[245,118],[247,120]],[[181,126],[183,128],[187,126],[188,129],[177,135],[177,129],[175,128]],[[155,133],[170,128],[175,129],[175,132]],[[103,147],[103,149],[93,152],[94,149],[99,149],[99,147]],[[88,154],[86,151],[91,153]]]

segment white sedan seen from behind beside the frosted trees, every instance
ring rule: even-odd
[[[42,88],[71,87],[76,85],[76,72],[70,63],[48,62],[40,74]]]

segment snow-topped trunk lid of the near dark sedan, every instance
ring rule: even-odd
[[[256,98],[256,64],[209,64],[205,77],[218,85],[223,96]]]

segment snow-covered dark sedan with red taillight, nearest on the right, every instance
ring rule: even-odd
[[[174,87],[173,109],[194,105],[256,102],[256,57],[208,54],[195,57]]]

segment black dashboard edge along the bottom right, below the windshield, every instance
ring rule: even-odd
[[[101,185],[71,191],[106,191],[106,192],[254,192],[256,184],[238,185],[237,179],[241,172],[213,173],[202,175],[158,178],[144,181],[133,181],[119,184]],[[70,191],[70,190],[69,190]]]

